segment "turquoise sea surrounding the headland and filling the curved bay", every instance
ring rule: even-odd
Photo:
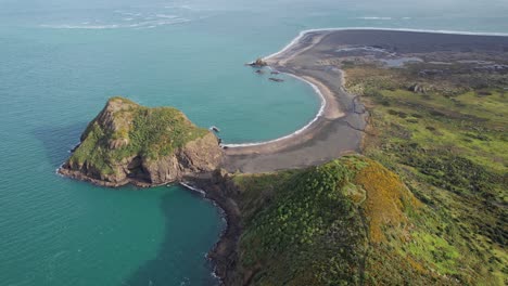
[[[220,211],[179,186],[111,190],[54,173],[109,96],[173,105],[228,143],[275,139],[312,88],[242,64],[302,29],[508,31],[506,1],[0,0],[0,284],[209,285]]]

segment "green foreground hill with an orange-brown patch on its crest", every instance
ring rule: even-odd
[[[363,156],[234,174],[243,233],[238,283],[461,284],[461,259],[401,178]],[[442,230],[444,231],[444,230]],[[466,260],[465,260],[466,261]]]

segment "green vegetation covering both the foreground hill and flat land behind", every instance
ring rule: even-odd
[[[503,58],[426,56],[317,62],[342,68],[370,114],[363,155],[232,174],[230,284],[506,284],[508,77],[485,64]]]

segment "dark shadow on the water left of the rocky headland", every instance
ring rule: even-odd
[[[71,155],[69,151],[79,143],[86,122],[65,127],[42,127],[34,130],[34,135],[42,142],[52,167],[59,168]]]

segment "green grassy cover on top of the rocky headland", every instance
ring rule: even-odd
[[[105,108],[112,117],[101,118],[103,112],[89,123],[71,164],[88,162],[109,173],[112,165],[125,158],[137,154],[149,159],[167,156],[208,132],[173,107],[149,108],[117,96],[110,99]]]

